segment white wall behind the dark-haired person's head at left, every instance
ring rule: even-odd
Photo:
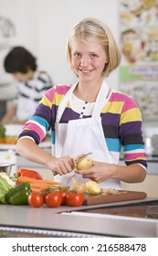
[[[37,0],[0,0],[0,17],[9,18],[16,27],[16,35],[12,37],[3,37],[0,27],[0,83],[10,80],[4,71],[3,59],[11,46],[23,45],[38,53],[36,9]]]

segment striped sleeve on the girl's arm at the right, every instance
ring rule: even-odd
[[[120,135],[126,165],[141,164],[147,167],[142,139],[142,114],[131,97],[126,96],[121,111]]]

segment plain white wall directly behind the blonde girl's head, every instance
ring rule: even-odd
[[[65,48],[69,30],[80,19],[88,16],[100,18],[108,23],[116,39],[119,37],[118,0],[40,0],[39,3],[40,66],[47,67],[55,82],[71,82],[76,79],[68,69]],[[118,87],[117,75],[111,81],[112,87]]]

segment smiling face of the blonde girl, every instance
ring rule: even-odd
[[[102,80],[102,71],[108,62],[104,48],[77,38],[71,44],[71,66],[80,81]]]

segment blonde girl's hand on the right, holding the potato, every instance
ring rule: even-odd
[[[90,178],[98,183],[112,178],[116,171],[116,166],[113,164],[106,164],[101,162],[94,162],[94,165],[86,170],[78,170],[78,174],[83,178]]]

